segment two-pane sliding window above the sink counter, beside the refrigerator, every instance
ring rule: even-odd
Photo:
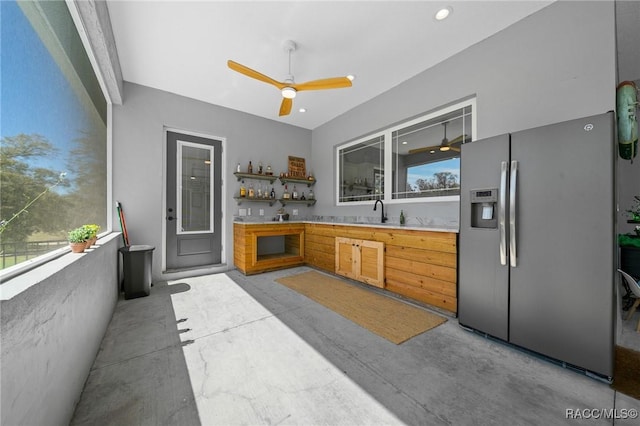
[[[474,110],[470,99],[339,146],[338,205],[458,199],[460,147],[473,139]]]

